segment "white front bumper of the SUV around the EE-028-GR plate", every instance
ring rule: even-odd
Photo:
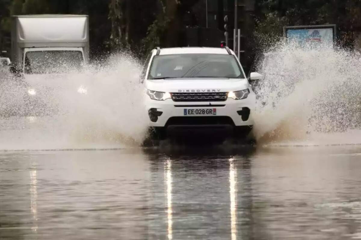
[[[184,109],[209,108],[215,108],[217,110],[217,115],[214,117],[229,117],[233,122],[233,126],[252,126],[253,110],[255,109],[256,105],[256,97],[254,94],[250,94],[248,98],[242,100],[234,100],[229,98],[226,101],[214,102],[175,102],[172,99],[157,101],[151,100],[149,98],[146,100],[145,105],[149,115],[148,125],[151,127],[169,127],[174,125],[169,124],[170,118],[173,117],[187,118],[189,120],[189,124],[187,125],[193,125],[192,119],[199,118],[199,116],[184,116]],[[207,116],[206,118],[212,117],[213,116]],[[209,125],[212,125],[212,123],[209,123]]]

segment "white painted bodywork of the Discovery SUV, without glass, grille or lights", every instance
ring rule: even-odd
[[[235,56],[233,51],[230,51]],[[232,119],[235,126],[253,126],[253,110],[256,105],[256,96],[252,91],[251,86],[247,78],[170,78],[165,80],[150,80],[148,79],[149,69],[152,64],[154,56],[157,54],[157,50],[153,50],[150,55],[148,65],[144,65],[147,70],[144,81],[144,101],[145,107],[149,109],[157,109],[162,112],[162,115],[158,117],[156,122],[149,120],[149,126],[151,127],[165,127],[167,121],[171,117],[184,117],[184,109],[217,109],[217,116],[227,116]],[[166,48],[161,49],[159,55],[168,54],[229,54],[225,48],[210,48],[210,47],[179,47],[179,48]],[[239,60],[237,62],[242,70],[243,68]],[[143,71],[144,71],[143,68]],[[245,76],[245,74],[244,74]],[[152,100],[147,94],[147,90],[159,91],[159,92],[232,92],[249,90],[249,95],[245,99],[235,100],[227,98],[225,101],[174,101],[173,99],[166,99],[164,101]],[[201,105],[201,106],[200,106]],[[243,108],[249,108],[251,113],[246,121],[242,120],[242,117],[237,111]],[[192,116],[189,116],[192,118]]]

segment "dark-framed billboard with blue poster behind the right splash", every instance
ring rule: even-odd
[[[283,34],[287,42],[301,47],[332,48],[336,38],[336,25],[284,27]]]

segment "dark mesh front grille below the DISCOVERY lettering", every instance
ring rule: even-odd
[[[227,92],[174,92],[171,94],[175,102],[226,101]]]

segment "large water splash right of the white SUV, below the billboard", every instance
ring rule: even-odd
[[[333,138],[342,143],[342,132],[360,127],[360,60],[356,52],[285,43],[265,54],[258,64],[264,80],[256,87],[258,141],[318,144]]]

